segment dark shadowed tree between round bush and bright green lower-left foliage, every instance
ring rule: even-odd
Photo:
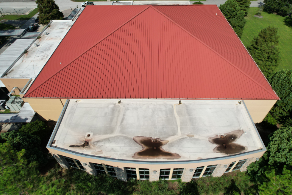
[[[37,161],[40,165],[46,163],[46,159],[40,149],[40,138],[38,136],[10,131],[2,133],[1,138],[6,140],[17,151],[25,149],[25,157],[28,162]]]

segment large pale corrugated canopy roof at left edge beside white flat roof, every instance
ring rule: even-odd
[[[24,50],[34,41],[34,39],[16,39],[3,53],[0,55],[0,75],[2,75]]]

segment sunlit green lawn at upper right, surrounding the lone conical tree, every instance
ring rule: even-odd
[[[276,71],[282,69],[292,69],[292,28],[285,25],[285,17],[263,12],[263,18],[254,17],[257,7],[250,7],[246,24],[241,36],[241,41],[245,47],[250,45],[252,39],[258,35],[261,29],[269,25],[278,28],[279,49],[281,52],[281,62]]]

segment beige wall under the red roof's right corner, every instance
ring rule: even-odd
[[[277,100],[244,100],[254,123],[262,122],[276,102]]]

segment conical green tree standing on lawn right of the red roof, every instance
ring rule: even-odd
[[[257,37],[254,37],[250,46],[247,47],[254,61],[267,78],[274,74],[274,69],[280,62],[277,32],[278,29],[275,27],[266,27],[260,31]]]

